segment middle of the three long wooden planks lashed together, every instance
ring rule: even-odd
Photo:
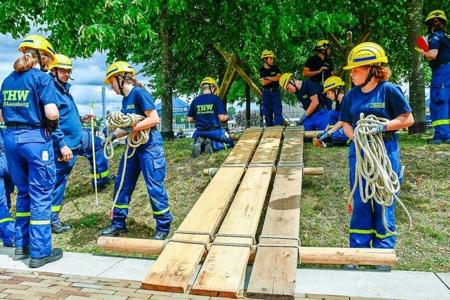
[[[238,296],[251,251],[249,247],[243,247],[242,244],[253,244],[252,237],[255,236],[271,181],[273,168],[270,164],[275,162],[282,134],[281,127],[264,132],[252,163],[194,282],[192,294],[232,298]],[[255,161],[257,164],[269,165],[252,167]],[[252,237],[220,235],[250,235]],[[217,243],[237,245],[225,246]]]

